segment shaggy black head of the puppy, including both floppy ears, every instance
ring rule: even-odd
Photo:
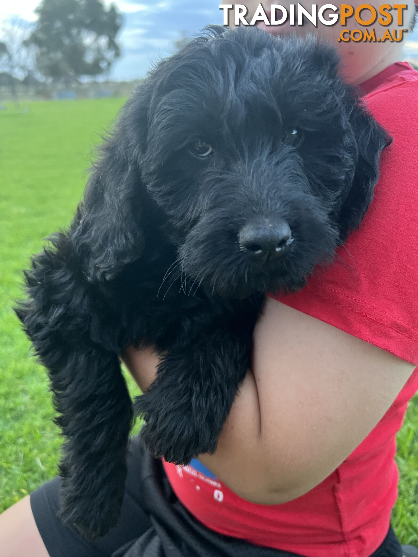
[[[100,223],[91,274],[139,257],[145,190],[209,291],[298,289],[361,223],[388,142],[332,48],[213,27],[125,106],[87,194]]]

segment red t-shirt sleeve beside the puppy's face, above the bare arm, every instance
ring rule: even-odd
[[[371,206],[331,265],[276,299],[418,364],[418,81],[365,100],[393,138]]]

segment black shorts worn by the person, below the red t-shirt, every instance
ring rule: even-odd
[[[56,516],[59,489],[55,478],[31,495],[33,516],[50,557],[294,557],[222,536],[193,519],[174,495],[161,462],[137,437],[130,443],[119,523],[103,538],[87,542],[61,524]],[[392,529],[372,557],[402,557]]]

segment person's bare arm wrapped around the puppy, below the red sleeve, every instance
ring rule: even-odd
[[[129,349],[146,390],[158,356]],[[322,482],[367,436],[414,365],[268,299],[247,373],[213,455],[200,460],[244,499],[280,504]]]

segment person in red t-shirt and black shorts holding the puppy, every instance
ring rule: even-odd
[[[249,17],[258,5],[246,2]],[[405,26],[414,14],[405,9]],[[401,42],[338,41],[338,25],[259,27],[338,46],[344,77],[393,137],[375,199],[332,265],[297,294],[267,298],[213,455],[161,465],[134,439],[113,530],[88,542],[62,526],[53,480],[0,517],[6,557],[418,555],[390,527],[395,436],[418,389],[418,72]],[[382,38],[386,27],[373,28]],[[125,361],[147,390],[158,355],[132,348]]]

